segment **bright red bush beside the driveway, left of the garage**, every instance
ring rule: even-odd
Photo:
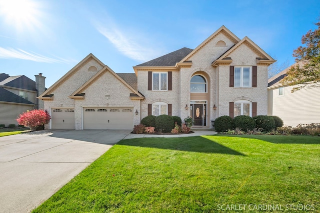
[[[35,131],[38,126],[47,124],[50,119],[51,117],[47,111],[34,109],[20,114],[16,121],[19,125],[30,127],[31,131]]]

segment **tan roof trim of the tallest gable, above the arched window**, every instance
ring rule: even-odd
[[[201,49],[208,42],[210,42],[219,33],[223,33],[224,35],[226,35],[230,40],[233,41],[233,43],[237,43],[240,41],[240,38],[238,38],[228,28],[222,25],[215,32],[213,32],[207,39],[205,39],[202,43],[200,43],[197,47],[195,47],[195,49],[193,49],[188,55],[182,58],[179,62],[187,61],[192,55],[194,55],[199,49]]]

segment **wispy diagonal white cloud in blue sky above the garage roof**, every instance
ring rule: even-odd
[[[122,54],[136,61],[147,61],[156,56],[159,56],[159,52],[155,51],[156,48],[143,47],[138,44],[132,37],[128,37],[125,33],[121,32],[116,27],[103,27],[97,26],[97,30],[105,36]],[[134,34],[134,33],[128,33]],[[141,38],[139,38],[141,40]]]

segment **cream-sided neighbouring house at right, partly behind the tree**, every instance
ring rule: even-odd
[[[276,115],[283,120],[284,125],[292,127],[320,123],[320,85],[291,93],[293,86],[280,83],[290,67],[268,80],[268,115]]]

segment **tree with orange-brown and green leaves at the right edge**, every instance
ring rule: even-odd
[[[320,20],[320,17],[318,18]],[[306,86],[319,87],[320,84],[320,21],[315,23],[317,29],[309,30],[301,38],[303,46],[293,50],[297,62],[280,81],[282,84],[294,86],[291,92]]]

